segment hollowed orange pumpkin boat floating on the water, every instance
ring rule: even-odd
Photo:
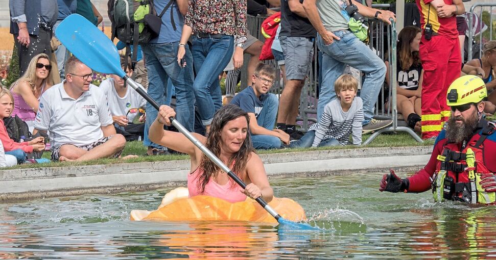
[[[269,205],[281,217],[291,221],[306,220],[303,208],[289,198],[274,198]],[[131,211],[131,220],[158,221],[251,221],[277,223],[255,200],[230,203],[211,196],[188,198],[187,188],[177,188],[167,193],[156,211]]]

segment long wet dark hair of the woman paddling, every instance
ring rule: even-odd
[[[222,107],[214,114],[214,119],[212,119],[212,123],[210,124],[210,134],[207,137],[205,147],[207,147],[218,158],[221,152],[222,128],[227,124],[227,122],[239,117],[245,117],[246,122],[248,123],[247,125],[250,124],[250,116],[248,113],[235,105],[227,105]],[[253,144],[251,143],[250,134],[247,133],[240,150],[235,152],[227,162],[227,166],[231,167],[231,170],[241,179],[244,179],[245,177],[244,170],[246,163],[250,158],[251,152],[254,152]],[[200,175],[198,179],[198,189],[201,193],[203,193],[205,191],[205,185],[208,181],[210,181],[210,178],[215,176],[221,169],[205,154],[202,154],[202,160],[199,167],[203,170],[203,174]],[[232,186],[235,185],[237,184],[232,182]]]

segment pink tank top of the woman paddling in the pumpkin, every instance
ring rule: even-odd
[[[220,185],[213,179],[210,179],[210,181],[208,181],[205,185],[205,190],[200,194],[198,189],[198,179],[201,174],[203,174],[203,170],[201,170],[200,167],[196,168],[194,172],[188,174],[188,192],[190,193],[190,198],[197,195],[208,195],[224,199],[231,203],[246,200],[246,195],[241,192],[243,189],[239,185],[232,187],[234,180],[231,178],[229,178],[229,181],[227,181],[225,185]]]

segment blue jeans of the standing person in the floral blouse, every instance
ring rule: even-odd
[[[219,74],[232,58],[233,50],[233,36],[224,35],[222,38],[193,36],[191,54],[196,72],[193,89],[203,125],[210,125],[214,113],[222,107]]]

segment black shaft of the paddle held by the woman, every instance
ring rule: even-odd
[[[150,102],[150,104],[157,111],[160,109],[160,105],[158,105],[158,103],[150,95],[148,95],[148,93],[145,92],[145,90],[143,88],[140,88],[129,76],[125,75],[123,77],[123,80],[126,81],[126,83],[129,86],[131,86],[134,90],[136,90],[136,92],[138,92],[138,94],[140,94],[148,102]],[[205,153],[205,155],[207,155],[207,157],[210,160],[212,160],[212,162],[214,162],[217,166],[219,166],[223,171],[227,172],[227,175],[229,175],[229,177],[231,177],[238,185],[240,185],[241,188],[243,188],[243,189],[246,188],[245,182],[242,179],[240,179],[238,177],[238,175],[234,174],[234,172],[232,172],[231,169],[229,169],[229,167],[227,167],[219,158],[217,158],[217,156],[214,153],[212,153],[207,147],[205,147],[205,145],[203,145],[203,143],[201,143],[189,131],[187,131],[187,129],[184,128],[184,126],[182,126],[181,123],[179,123],[173,117],[170,117],[169,119],[171,120],[172,125],[174,125],[179,130],[179,132],[181,132],[183,135],[185,135],[187,137],[187,139],[190,139],[190,141],[196,147],[198,147],[203,153]],[[256,200],[256,202],[258,202],[258,204],[260,204],[262,207],[264,207],[264,209],[270,215],[272,215],[272,217],[274,217],[276,220],[279,220],[279,218],[281,216],[279,214],[277,214],[277,212],[275,212],[274,209],[272,209],[272,207],[263,198],[258,197],[255,200]]]

